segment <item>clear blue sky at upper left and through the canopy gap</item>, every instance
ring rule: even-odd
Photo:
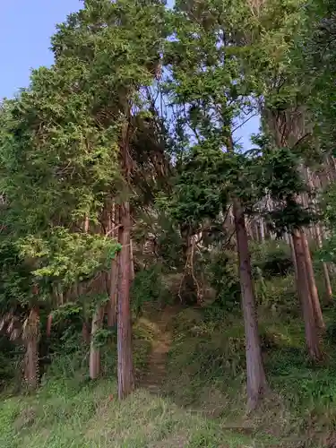
[[[27,87],[31,68],[53,63],[49,47],[55,25],[80,7],[80,0],[0,0],[0,99]],[[246,150],[258,126],[254,117],[235,135]]]

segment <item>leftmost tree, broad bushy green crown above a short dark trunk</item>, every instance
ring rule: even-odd
[[[115,137],[98,132],[88,114],[88,97],[81,91],[73,94],[81,77],[73,65],[42,67],[32,74],[30,88],[2,108],[6,207],[1,219],[11,232],[20,263],[34,276],[31,299],[23,302],[28,309],[22,338],[30,341],[30,347],[38,343],[39,329],[32,327],[39,325],[39,306],[61,305],[66,290],[82,277],[94,276],[116,249],[112,240],[81,231],[86,216],[96,220],[99,216],[102,192],[115,176],[111,168],[116,159],[116,151],[111,151],[116,148]]]

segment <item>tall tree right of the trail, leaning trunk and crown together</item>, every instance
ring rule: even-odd
[[[248,408],[254,409],[267,389],[245,223],[254,200],[248,162],[233,141],[237,120],[249,113],[252,104],[241,78],[240,50],[230,39],[229,11],[229,4],[222,2],[177,3],[173,15],[176,34],[167,56],[168,93],[179,110],[177,125],[185,127],[185,149],[169,208],[195,233],[202,221],[225,214],[233,203],[246,328]]]

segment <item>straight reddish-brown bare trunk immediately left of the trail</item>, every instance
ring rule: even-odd
[[[131,212],[129,202],[120,207],[119,243],[122,246],[119,255],[118,278],[118,314],[117,314],[117,356],[118,356],[118,396],[125,398],[134,390],[132,323],[130,306],[131,283]]]

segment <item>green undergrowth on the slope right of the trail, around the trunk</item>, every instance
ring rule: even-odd
[[[306,358],[304,328],[296,311],[294,317],[270,309],[259,311],[271,390],[259,411],[246,417],[245,338],[238,312],[189,308],[178,315],[166,393],[178,404],[202,409],[228,427],[271,435],[270,446],[336,446],[334,311],[325,312],[325,359],[319,366]]]

